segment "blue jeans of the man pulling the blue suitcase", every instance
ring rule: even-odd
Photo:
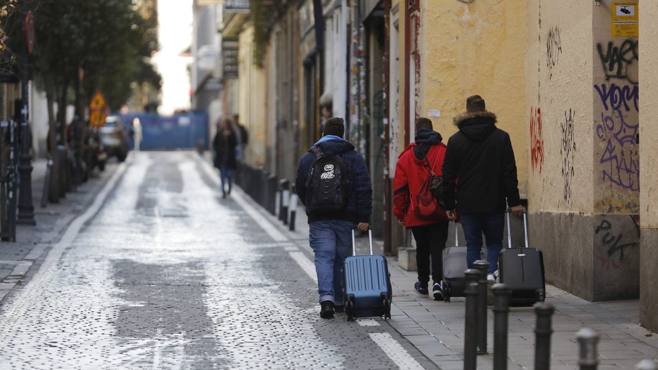
[[[354,224],[348,221],[309,223],[309,244],[315,252],[320,303],[343,305],[343,263],[349,256]]]

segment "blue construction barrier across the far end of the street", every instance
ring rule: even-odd
[[[120,115],[121,121],[130,132],[135,118],[141,122],[141,150],[197,149],[199,140],[209,148],[208,114],[205,112],[181,113],[161,116],[153,113],[128,113]],[[132,138],[128,145],[132,148]]]

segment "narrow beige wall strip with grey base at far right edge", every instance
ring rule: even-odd
[[[658,3],[655,1],[642,1],[640,3],[640,35],[642,49],[640,49],[640,83],[642,84],[642,102],[640,108],[640,136],[642,143],[658,142],[655,117],[658,115]],[[640,253],[640,322],[651,330],[658,330],[658,148],[655,144],[640,147],[640,217],[641,246]]]

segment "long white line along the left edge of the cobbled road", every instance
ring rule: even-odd
[[[3,342],[2,338],[4,334],[9,331],[7,327],[13,325],[19,317],[22,317],[25,314],[25,311],[31,307],[30,302],[38,298],[39,294],[41,294],[41,286],[50,281],[55,270],[57,270],[57,263],[59,263],[59,259],[62,256],[62,253],[64,253],[64,250],[70,246],[71,242],[73,242],[76,236],[78,236],[82,226],[84,226],[84,224],[89,221],[99,209],[101,209],[105,202],[105,198],[107,198],[110,192],[114,189],[116,182],[118,182],[122,174],[126,172],[126,168],[125,163],[118,166],[112,177],[108,180],[105,186],[103,186],[101,192],[97,194],[91,206],[89,206],[85,213],[76,217],[71,225],[68,226],[62,238],[53,246],[50,253],[48,253],[48,256],[43,262],[43,265],[41,265],[39,271],[37,271],[34,277],[32,277],[32,280],[30,280],[25,288],[20,291],[20,294],[16,296],[16,299],[9,304],[9,307],[7,307],[7,310],[3,315],[0,316],[0,342]]]

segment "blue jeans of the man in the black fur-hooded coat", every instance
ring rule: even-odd
[[[466,238],[466,263],[469,269],[480,259],[482,250],[482,233],[487,242],[488,273],[498,269],[498,255],[503,249],[503,229],[505,213],[462,213],[461,227]]]

